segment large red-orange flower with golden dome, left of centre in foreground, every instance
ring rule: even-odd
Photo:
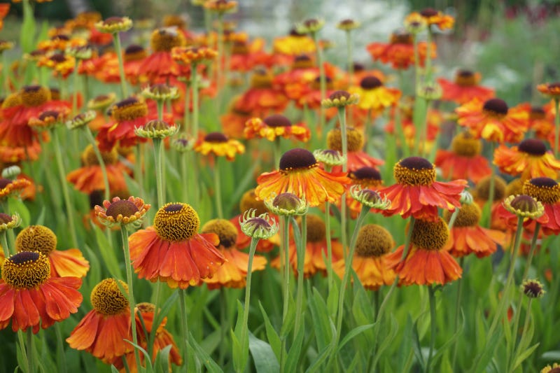
[[[170,288],[199,285],[214,276],[225,258],[216,234],[198,234],[200,219],[188,204],[169,203],[153,226],[130,236],[130,259],[140,279],[167,282]]]

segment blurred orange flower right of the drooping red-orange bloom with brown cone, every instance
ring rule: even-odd
[[[478,258],[484,258],[496,252],[497,245],[506,244],[506,235],[499,230],[488,230],[478,225],[482,215],[477,204],[462,204],[451,228],[453,242],[449,253],[461,258],[475,253]],[[444,211],[444,219],[449,222],[451,213]]]

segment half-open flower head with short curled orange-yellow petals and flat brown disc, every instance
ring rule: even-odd
[[[151,205],[145,204],[144,199],[139,197],[113,197],[111,201],[103,201],[103,206],[96,205],[94,211],[99,222],[108,227],[129,224],[132,227],[140,227],[142,218],[150,207]]]

